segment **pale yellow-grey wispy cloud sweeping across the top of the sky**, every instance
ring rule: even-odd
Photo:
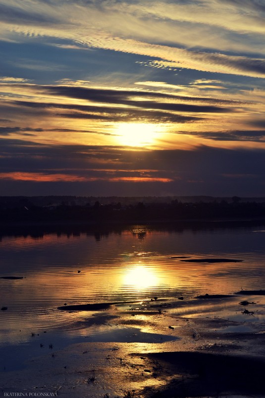
[[[264,20],[255,7],[250,13],[239,4],[210,0],[185,5],[162,1],[152,7],[149,1],[29,3],[31,7],[17,1],[2,5],[2,18],[11,26],[9,39],[13,32],[37,40],[49,36],[56,45],[59,39],[68,39],[77,47],[152,57],[150,66],[265,76],[264,46],[260,45]],[[259,57],[245,55],[254,48]]]

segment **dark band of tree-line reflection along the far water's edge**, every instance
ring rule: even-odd
[[[0,222],[0,238],[4,236],[27,236],[41,237],[44,234],[70,234],[79,235],[80,233],[105,235],[109,233],[122,233],[130,228],[139,228],[139,231],[132,233],[145,233],[147,231],[175,231],[184,230],[200,231],[223,228],[249,228],[265,225],[265,218],[226,218],[226,219],[135,219],[127,220],[58,220],[58,221],[17,221]],[[142,231],[140,229],[143,228]]]

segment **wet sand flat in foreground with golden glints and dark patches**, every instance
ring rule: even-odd
[[[44,355],[40,349],[21,370],[1,367],[0,390],[67,398],[264,398],[265,299],[258,293],[242,294],[245,306],[236,294],[216,294],[159,300],[155,308],[154,300],[100,308],[74,326],[85,342],[54,344]]]

